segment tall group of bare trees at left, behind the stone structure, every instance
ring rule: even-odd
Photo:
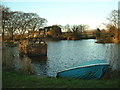
[[[2,36],[10,34],[24,35],[28,30],[39,30],[46,25],[47,20],[36,13],[25,13],[22,11],[11,11],[10,8],[0,5],[2,10]]]

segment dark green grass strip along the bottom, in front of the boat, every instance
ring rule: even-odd
[[[15,71],[3,71],[3,88],[118,88],[119,78],[81,80],[73,78],[45,78]]]

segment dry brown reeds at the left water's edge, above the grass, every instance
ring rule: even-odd
[[[5,47],[2,50],[3,69],[15,69],[32,74],[35,68],[28,57],[19,57],[18,47]]]

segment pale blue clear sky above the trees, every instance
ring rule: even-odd
[[[2,0],[12,11],[37,13],[50,25],[87,24],[90,29],[104,28],[103,23],[119,0]]]

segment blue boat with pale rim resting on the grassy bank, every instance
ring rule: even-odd
[[[109,63],[105,60],[91,60],[77,67],[69,68],[57,73],[57,77],[71,77],[80,79],[100,79]]]

